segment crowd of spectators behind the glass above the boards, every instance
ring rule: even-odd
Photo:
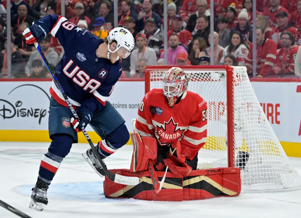
[[[79,28],[106,38],[113,29],[113,0],[65,0],[65,17]],[[63,4],[64,4],[63,2]],[[130,56],[121,59],[121,78],[144,78],[148,65],[231,65],[246,66],[253,77],[301,78],[301,0],[168,0],[163,17],[163,0],[119,0],[118,26],[135,38]],[[0,4],[0,78],[7,78],[7,48],[11,46],[14,78],[51,78],[35,47],[26,44],[23,31],[49,14],[61,15],[61,0],[13,0],[11,23],[6,20],[6,0]],[[213,42],[210,16],[214,20]],[[167,19],[167,35],[163,22]],[[253,20],[256,19],[256,38]],[[11,25],[11,42],[6,26]],[[168,49],[164,54],[164,37]],[[256,60],[253,60],[256,43]],[[10,45],[8,45],[10,44]],[[55,69],[64,55],[60,42],[48,34],[40,47]],[[213,46],[213,54],[210,47]],[[213,63],[210,57],[213,56]]]

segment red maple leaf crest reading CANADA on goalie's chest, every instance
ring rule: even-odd
[[[181,139],[184,136],[184,131],[185,129],[179,128],[178,123],[175,123],[171,117],[168,122],[164,121],[164,126],[157,126],[155,135],[160,145],[168,146],[174,141]]]

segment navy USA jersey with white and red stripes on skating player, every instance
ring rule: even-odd
[[[96,56],[96,49],[104,40],[90,31],[70,23],[65,17],[47,15],[40,19],[64,48],[64,55],[57,64],[55,76],[60,81],[70,103],[84,105],[91,112],[101,110],[121,75],[119,60],[112,64],[109,59]],[[66,106],[61,91],[54,81],[50,88],[51,96]]]

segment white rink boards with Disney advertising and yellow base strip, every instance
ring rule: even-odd
[[[301,157],[301,82],[252,81],[256,96],[288,156]],[[50,141],[48,137],[51,81],[1,81],[0,141]],[[119,81],[108,101],[126,120],[132,118],[144,97],[144,81]],[[99,137],[87,127],[93,142]],[[79,134],[79,142],[85,138]],[[131,144],[131,142],[128,142]]]

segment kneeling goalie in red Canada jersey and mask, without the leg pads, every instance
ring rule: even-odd
[[[181,68],[172,67],[164,75],[162,88],[144,96],[134,127],[143,143],[140,150],[134,146],[131,170],[146,170],[149,159],[157,171],[168,166],[173,173],[187,176],[197,169],[197,153],[207,137],[207,103],[187,91],[188,80]]]

